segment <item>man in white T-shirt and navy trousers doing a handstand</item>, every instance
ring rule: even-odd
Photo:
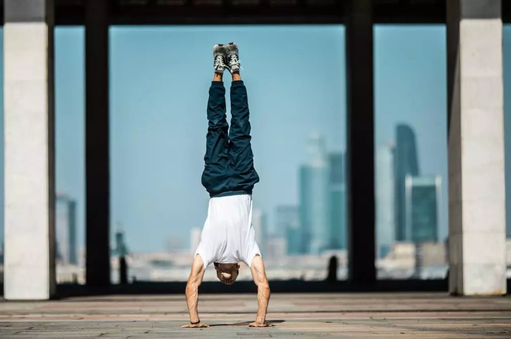
[[[250,267],[258,289],[258,312],[249,326],[266,327],[270,287],[259,246],[252,228],[252,189],[259,181],[253,166],[248,121],[247,90],[240,76],[238,46],[231,42],[213,47],[215,74],[207,101],[206,154],[202,185],[210,194],[207,218],[188,278],[186,297],[190,324],[182,327],[208,327],[197,311],[198,288],[204,271],[214,263],[217,276],[225,284],[238,277],[239,262]],[[230,87],[230,129],[225,116],[225,68],[232,74]]]

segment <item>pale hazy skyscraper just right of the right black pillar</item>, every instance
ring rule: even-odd
[[[376,248],[378,257],[388,254],[395,238],[394,149],[382,145],[376,151]]]

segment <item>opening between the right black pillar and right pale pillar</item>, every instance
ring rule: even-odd
[[[375,25],[379,279],[447,274],[445,25]]]

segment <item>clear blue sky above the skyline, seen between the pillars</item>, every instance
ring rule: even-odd
[[[375,142],[393,140],[396,123],[414,128],[422,173],[443,178],[440,238],[447,236],[445,34],[444,25],[375,27]],[[111,223],[112,231],[118,222],[123,225],[131,250],[162,250],[169,239],[188,247],[189,229],[202,227],[208,200],[200,174],[211,47],[229,41],[240,45],[248,90],[255,166],[261,176],[254,206],[268,214],[270,229],[276,205],[298,202],[298,167],[306,161],[311,132],[324,136],[329,151],[345,149],[342,26],[113,27]],[[56,29],[56,185],[58,192],[78,201],[80,246],[83,44],[83,28]],[[505,55],[511,55],[509,27],[504,29]],[[509,68],[504,63],[505,79],[511,79]],[[227,88],[229,83],[225,81]],[[505,87],[506,98],[511,98],[510,87]],[[509,111],[507,105],[507,126]],[[508,133],[506,144],[510,142]]]

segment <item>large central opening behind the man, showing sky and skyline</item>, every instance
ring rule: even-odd
[[[110,28],[111,220],[128,248],[128,277],[188,278],[209,201],[200,178],[211,48],[231,40],[248,90],[261,178],[252,224],[267,275],[324,279],[335,255],[343,278],[342,25]],[[230,121],[228,72],[224,82]],[[213,268],[205,280],[218,281]]]

